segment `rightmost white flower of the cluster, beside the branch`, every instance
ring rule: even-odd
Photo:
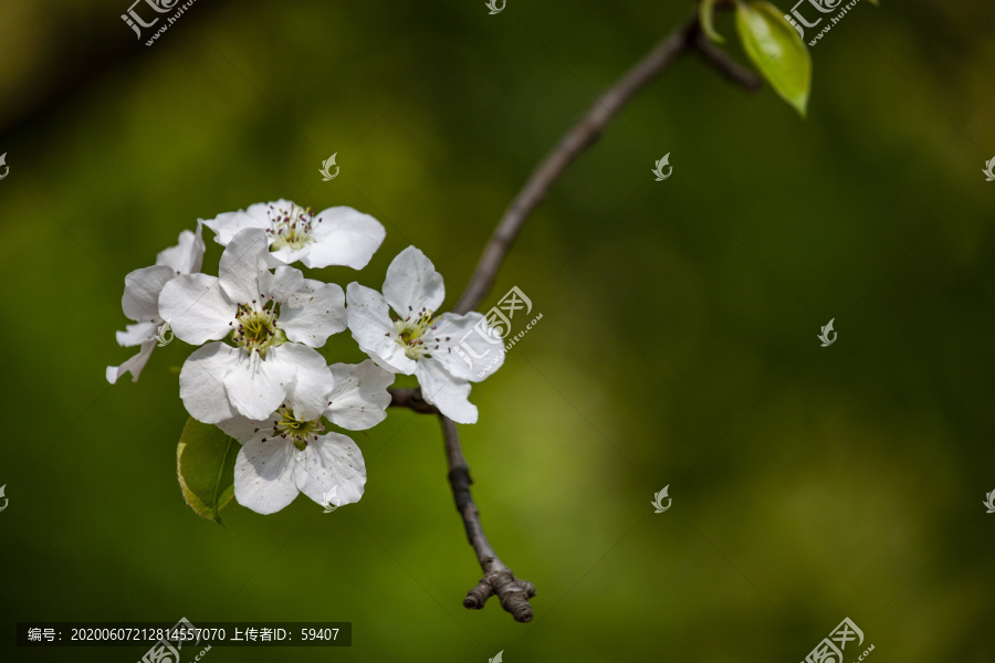
[[[476,422],[470,382],[482,380],[479,373],[491,361],[498,370],[504,348],[480,313],[436,316],[446,290],[421,251],[408,246],[394,259],[384,294],[350,283],[346,297],[353,338],[374,361],[391,372],[413,373],[425,400],[453,421]]]

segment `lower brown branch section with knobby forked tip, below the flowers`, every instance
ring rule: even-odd
[[[516,622],[532,621],[532,606],[528,599],[535,596],[535,586],[527,580],[519,580],[510,568],[494,552],[494,548],[488,540],[483,527],[480,524],[480,512],[470,494],[470,467],[463,451],[460,449],[460,438],[455,423],[448,417],[439,415],[442,422],[442,436],[446,440],[446,457],[449,461],[449,485],[452,487],[452,496],[455,498],[457,511],[463,517],[463,526],[467,528],[467,538],[484,576],[480,582],[467,592],[463,606],[470,610],[480,610],[489,598],[496,594],[501,607],[512,613]]]

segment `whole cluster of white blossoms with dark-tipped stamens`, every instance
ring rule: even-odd
[[[217,276],[200,271],[203,225],[224,246]],[[385,236],[376,219],[352,208],[314,214],[286,200],[198,221],[155,265],[125,277],[122,308],[135,324],[117,340],[140,349],[108,367],[107,380],[126,372],[137,380],[157,333],[171,329],[197,348],[179,376],[187,412],[241,443],[240,504],[271,514],[300,493],[324,506],[329,496],[334,506],[358,502],[363,454],[328,427],[366,430],[386,419],[397,373],[413,375],[425,400],[453,421],[475,423],[468,397],[481,367],[460,346],[488,343],[479,334],[489,330],[481,314],[438,313],[442,276],[415,246],[390,263],[383,292],[358,283],[343,291],[290,266],[362,270]],[[478,334],[469,334],[474,327]],[[347,328],[369,359],[329,366],[318,349]]]

